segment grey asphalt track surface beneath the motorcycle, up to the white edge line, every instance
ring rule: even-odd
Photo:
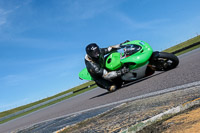
[[[21,118],[0,124],[0,133],[11,132],[35,123],[67,116],[82,110],[200,81],[200,49],[180,56],[179,60],[180,64],[176,69],[157,73],[150,78],[127,85],[116,92],[107,93],[106,90],[96,88]]]

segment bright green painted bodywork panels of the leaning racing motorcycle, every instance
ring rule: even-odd
[[[129,46],[130,44],[138,45],[141,47],[141,49],[137,51],[136,53],[130,55],[129,57],[126,57],[123,59],[121,59],[121,57],[124,55],[124,53],[118,53],[118,52],[111,53],[107,57],[106,63],[105,63],[105,67],[108,70],[111,70],[111,71],[118,70],[123,66],[123,64],[130,64],[130,63],[132,64],[129,65],[129,68],[133,70],[143,65],[146,65],[149,62],[149,59],[153,53],[153,50],[148,43],[141,40],[135,40],[135,41],[125,43],[123,44],[123,46],[126,46],[126,45]],[[79,73],[79,77],[85,80],[93,80],[87,68],[84,68]]]

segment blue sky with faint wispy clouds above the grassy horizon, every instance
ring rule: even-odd
[[[200,33],[199,0],[0,0],[0,112],[85,81],[85,46],[144,40],[164,50]]]

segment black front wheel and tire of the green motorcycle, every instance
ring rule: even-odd
[[[176,55],[166,52],[157,52],[152,57],[151,64],[156,71],[168,71],[174,69],[179,64],[179,59]]]

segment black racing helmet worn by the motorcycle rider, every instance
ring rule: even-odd
[[[100,57],[100,48],[96,43],[90,43],[86,46],[86,53],[92,60],[98,60]]]

